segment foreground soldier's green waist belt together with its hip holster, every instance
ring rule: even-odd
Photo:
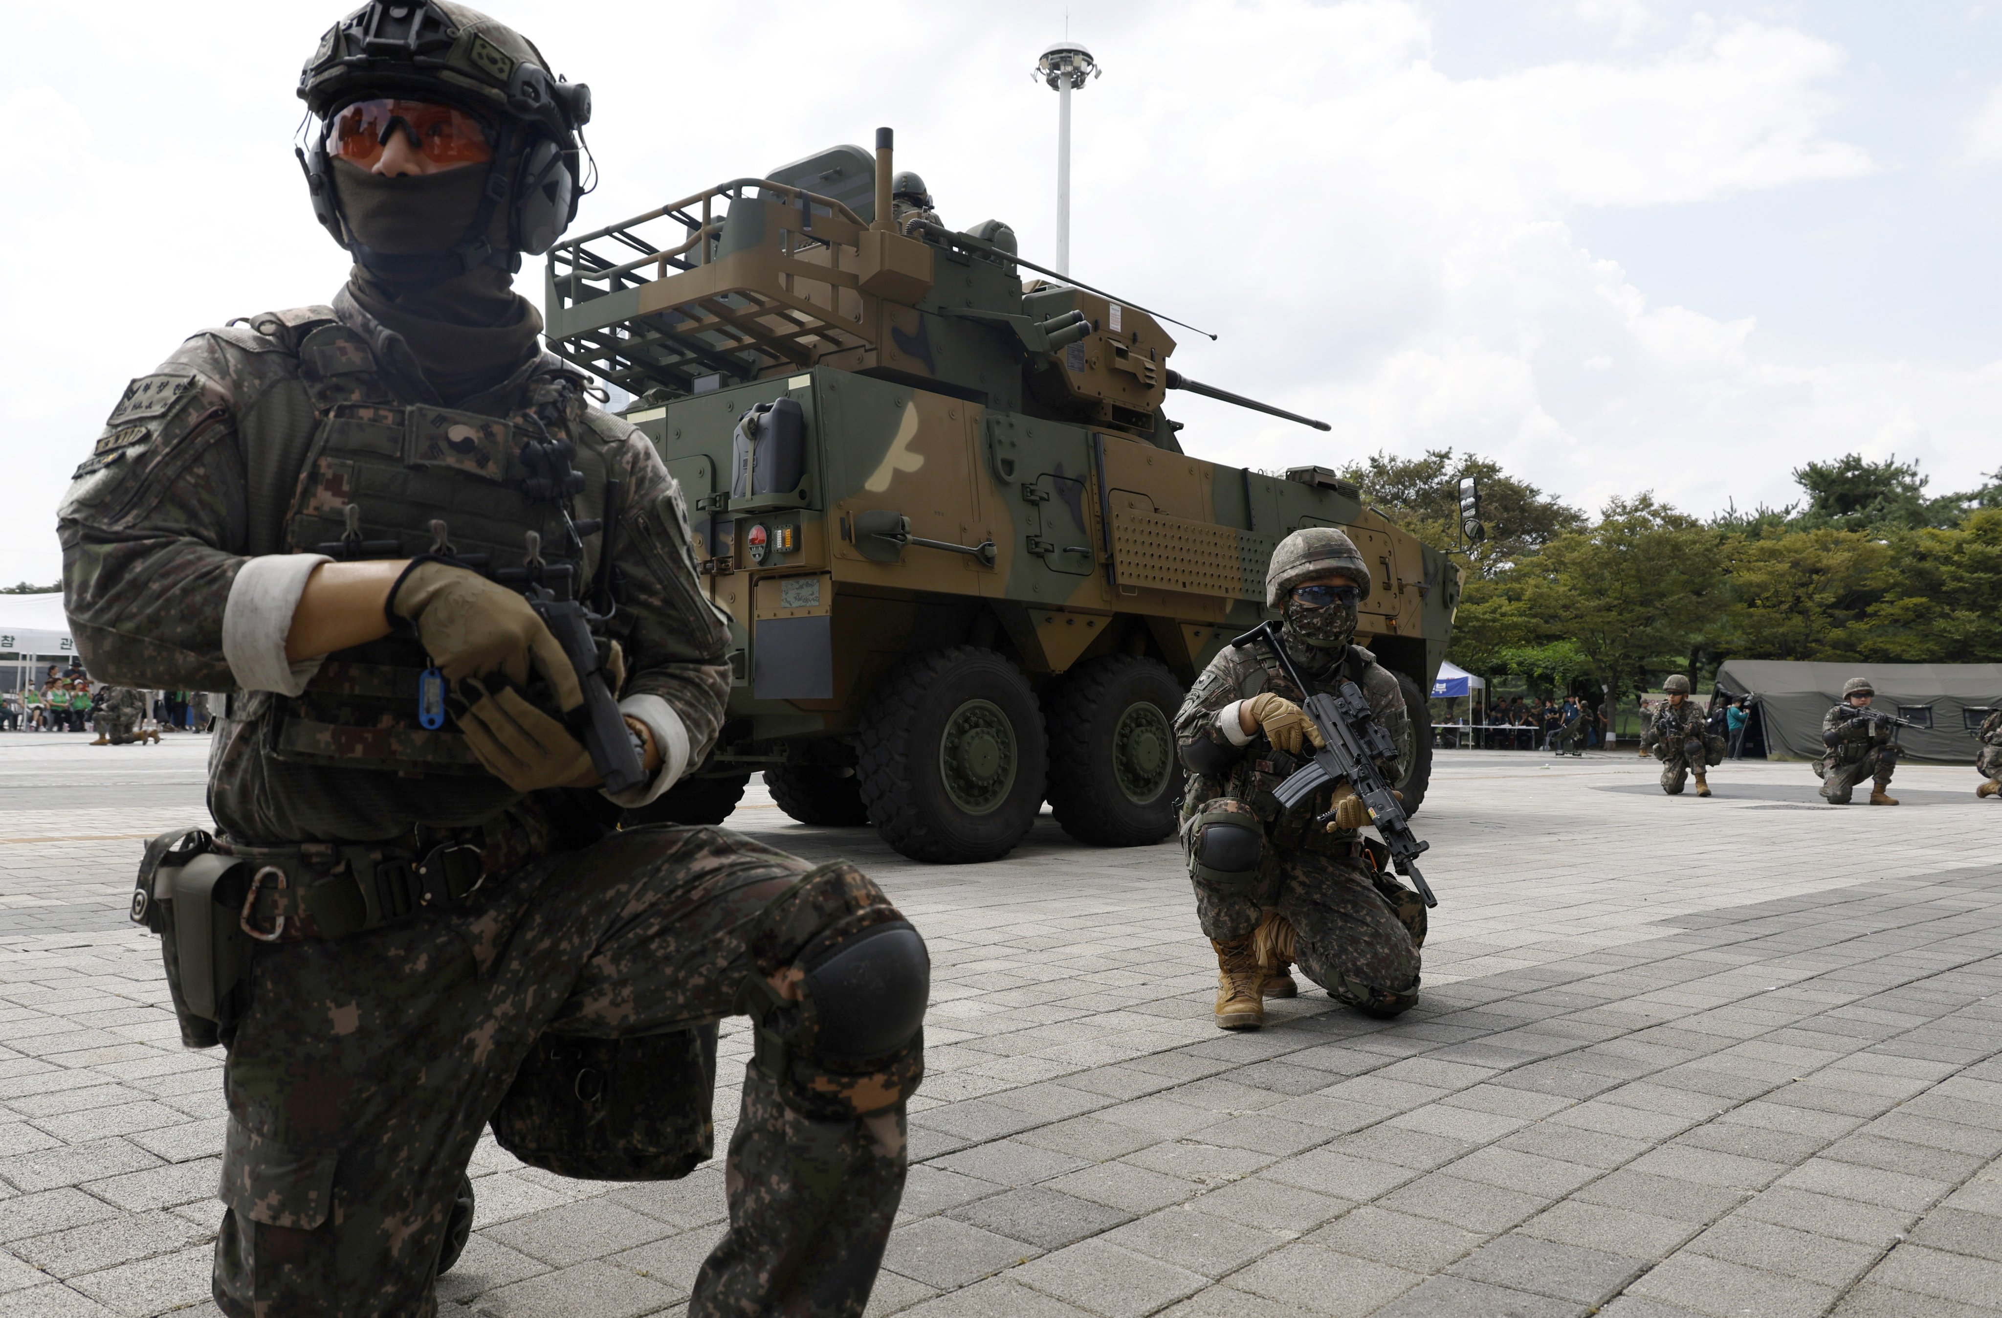
[[[176,829],[146,843],[130,915],[160,935],[182,1044],[214,1048],[240,1012],[252,943],[352,937],[450,909],[551,845],[535,817],[505,829],[272,847]]]

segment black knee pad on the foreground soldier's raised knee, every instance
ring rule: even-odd
[[[907,1100],[925,1076],[931,996],[917,929],[849,863],[809,871],[759,923],[743,1008],[781,1102],[833,1122]]]

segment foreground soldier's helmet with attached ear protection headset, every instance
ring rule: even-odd
[[[591,88],[565,82],[529,38],[446,0],[372,0],[326,30],[298,74],[298,98],[326,120],[372,96],[440,100],[492,132],[492,164],[478,214],[448,252],[388,254],[362,244],[340,216],[324,132],[298,148],[312,214],[354,260],[382,274],[450,278],[478,264],[521,268],[521,252],[547,252],[577,218],[579,130],[591,122]],[[488,230],[507,206],[507,248]]]

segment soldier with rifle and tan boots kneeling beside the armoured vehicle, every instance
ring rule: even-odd
[[[1333,527],[1295,531],[1265,575],[1267,605],[1285,617],[1285,645],[1321,691],[1353,681],[1399,747],[1383,765],[1399,781],[1413,753],[1397,679],[1357,645],[1357,601],[1369,567]],[[1357,831],[1367,811],[1347,783],[1281,811],[1273,797],[1319,737],[1277,663],[1225,649],[1175,715],[1175,743],[1189,771],[1181,833],[1195,881],[1195,913],[1217,953],[1215,1020],[1257,1028],[1265,998],[1291,998],[1289,963],[1371,1016],[1417,1002],[1425,905],[1385,871],[1385,855]],[[1343,813],[1327,823],[1315,817]]]

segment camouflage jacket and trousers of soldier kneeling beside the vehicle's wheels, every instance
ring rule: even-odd
[[[1411,723],[1397,679],[1355,645],[1339,663],[1327,663],[1325,655],[1315,659],[1319,673],[1305,669],[1305,675],[1323,691],[1333,691],[1343,677],[1361,687],[1399,747],[1399,765],[1385,765],[1385,775],[1395,781],[1411,753]],[[1231,763],[1219,775],[1189,773],[1181,805],[1185,831],[1205,805],[1221,797],[1247,803],[1265,831],[1255,891],[1223,891],[1193,879],[1203,933],[1233,943],[1249,937],[1267,911],[1277,911],[1293,925],[1299,967],[1337,1002],[1381,1014],[1403,1010],[1417,1002],[1425,905],[1377,869],[1353,829],[1329,833],[1315,823],[1315,815],[1331,807],[1337,787],[1323,787],[1281,811],[1273,789],[1301,761],[1273,749],[1263,735],[1233,747],[1217,721],[1227,705],[1259,691],[1295,703],[1305,699],[1283,671],[1269,671],[1257,653],[1225,649],[1203,669],[1175,715],[1175,743],[1185,759],[1191,745],[1207,743],[1211,759]]]

